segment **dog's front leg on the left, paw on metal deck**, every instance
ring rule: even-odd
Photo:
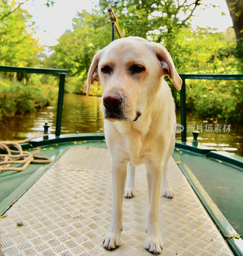
[[[111,159],[111,176],[113,191],[111,224],[103,242],[103,246],[108,250],[121,245],[122,201],[127,176],[127,163],[120,163]]]

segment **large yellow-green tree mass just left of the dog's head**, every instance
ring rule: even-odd
[[[84,84],[92,57],[97,50],[109,44],[111,39],[107,20],[107,16],[100,15],[97,11],[77,13],[73,19],[73,29],[67,30],[58,39],[59,43],[52,47],[55,52],[44,65],[68,69],[66,92],[85,93]],[[91,94],[100,93],[100,84],[92,87]]]

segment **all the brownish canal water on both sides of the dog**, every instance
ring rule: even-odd
[[[95,96],[65,93],[61,133],[104,132],[100,99]],[[10,118],[0,126],[0,140],[22,140],[43,131],[45,121],[49,131],[55,133],[56,105],[41,108],[23,116]],[[176,111],[180,124],[180,110]],[[240,124],[215,123],[213,120],[187,113],[187,139],[192,142],[192,130],[199,130],[198,142],[204,146],[218,148],[243,156],[243,127]],[[180,139],[180,133],[176,134]]]

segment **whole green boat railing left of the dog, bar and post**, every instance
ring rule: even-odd
[[[57,137],[60,136],[61,125],[62,125],[62,114],[63,114],[63,95],[64,95],[65,75],[68,74],[68,70],[56,69],[56,68],[21,68],[21,67],[14,67],[14,66],[0,66],[0,71],[60,75],[58,102],[57,102],[57,110],[56,110],[56,129],[55,129],[55,135]]]

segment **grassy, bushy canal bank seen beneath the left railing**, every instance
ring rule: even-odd
[[[15,115],[23,115],[48,106],[57,95],[58,87],[49,84],[26,85],[0,80],[0,122]]]

